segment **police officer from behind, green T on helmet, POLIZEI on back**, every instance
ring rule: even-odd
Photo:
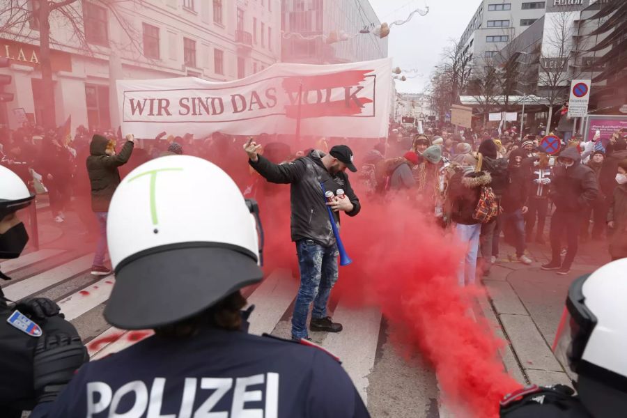
[[[32,418],[369,417],[329,354],[242,331],[240,289],[263,277],[258,236],[219,167],[187,155],[142,164],[116,189],[107,235],[116,283],[104,317],[155,335],[82,366]]]

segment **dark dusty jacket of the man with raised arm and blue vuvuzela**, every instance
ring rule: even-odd
[[[310,239],[325,247],[335,244],[335,237],[327,212],[327,201],[320,183],[325,190],[337,194],[337,189],[344,193],[353,203],[353,210],[346,212],[348,216],[359,213],[359,199],[350,187],[346,173],[339,172],[332,176],[320,160],[319,151],[311,151],[307,157],[300,157],[286,164],[274,164],[262,155],[257,162],[249,160],[249,164],[266,180],[272,183],[290,183],[291,188],[291,235],[292,240]],[[339,227],[339,213],[334,212]]]

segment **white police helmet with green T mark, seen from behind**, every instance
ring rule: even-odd
[[[177,322],[260,281],[255,217],[233,180],[188,155],[131,171],[107,219],[116,284],[104,317],[127,330]]]

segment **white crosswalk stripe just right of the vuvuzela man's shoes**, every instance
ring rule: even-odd
[[[377,352],[381,312],[372,308],[350,309],[340,302],[333,312],[333,320],[341,323],[343,330],[328,334],[323,346],[339,357],[364,403],[367,403],[366,389]]]

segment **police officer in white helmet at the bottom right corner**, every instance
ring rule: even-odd
[[[530,386],[501,401],[506,418],[624,418],[627,415],[627,258],[575,280],[553,350],[577,373],[564,385]]]

